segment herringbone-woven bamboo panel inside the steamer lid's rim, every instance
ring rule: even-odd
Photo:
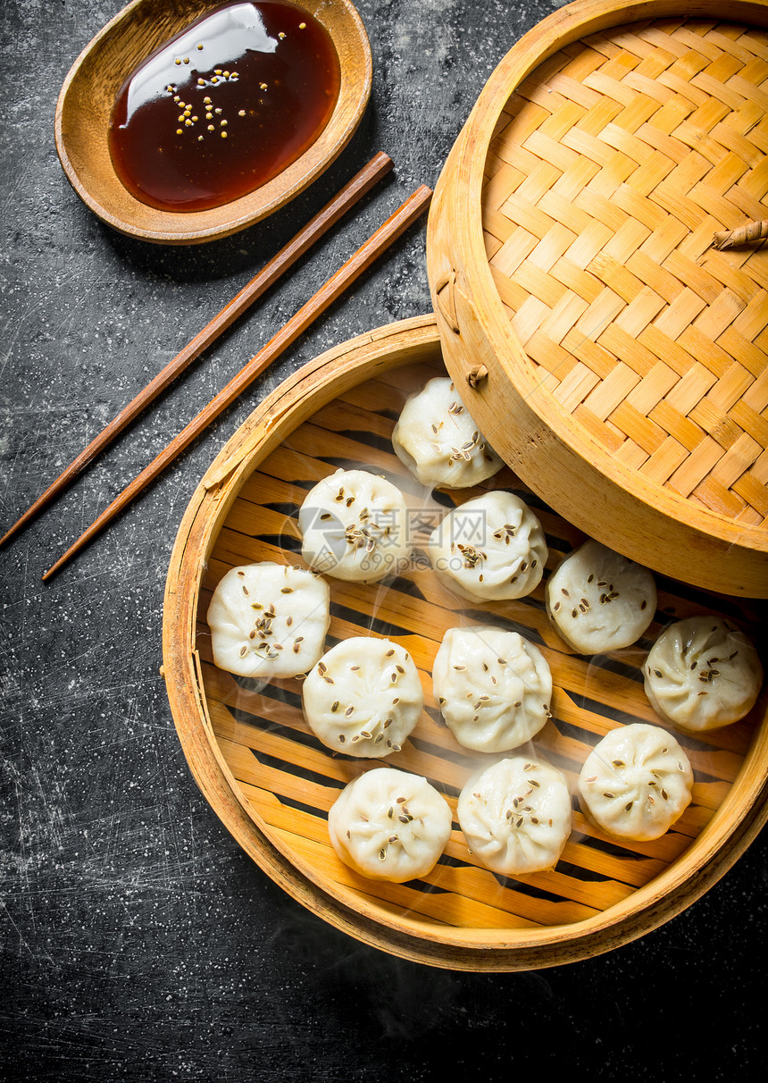
[[[509,97],[484,233],[544,387],[618,460],[768,518],[768,35],[657,19],[568,45]]]

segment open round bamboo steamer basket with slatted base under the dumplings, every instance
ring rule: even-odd
[[[768,818],[768,703],[723,730],[679,736],[697,780],[692,804],[662,838],[611,843],[578,809],[556,869],[500,877],[469,853],[455,821],[458,794],[478,757],[440,722],[431,669],[445,630],[501,619],[540,644],[553,673],[553,718],[534,739],[574,790],[581,765],[606,732],[658,721],[641,683],[651,639],[676,617],[713,612],[759,627],[745,603],[659,578],[648,640],[610,657],[574,655],[548,626],[542,585],[519,601],[463,610],[426,561],[399,578],[329,578],[327,647],[354,635],[386,636],[418,665],[425,709],[400,752],[385,760],[333,755],[301,712],[301,682],[261,690],[212,663],[206,613],[234,565],[301,562],[297,512],[306,492],[337,467],[367,466],[394,480],[409,507],[424,491],[394,455],[390,435],[406,395],[445,375],[435,317],[360,336],[306,365],[274,391],[204,474],[182,521],[164,600],[163,674],[181,743],[206,799],[240,846],[290,896],[352,937],[394,955],[466,970],[546,967],[609,951],[689,905],[732,864]],[[509,487],[535,507],[554,564],[582,534],[508,468],[475,490],[438,495],[440,513],[482,488]],[[527,746],[529,747],[529,746]],[[480,757],[482,758],[482,757]],[[343,786],[381,764],[423,774],[454,813],[434,872],[403,885],[356,875],[331,847],[327,815]]]

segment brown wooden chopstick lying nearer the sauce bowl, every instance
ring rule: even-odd
[[[76,459],[52,482],[42,496],[32,504],[22,518],[0,538],[0,546],[10,540],[14,534],[42,511],[77,475],[91,462],[100,452],[122,432],[127,425],[137,417],[165,388],[183,373],[188,365],[208,349],[235,321],[256,301],[280,275],[284,274],[332,225],[355,204],[370,192],[374,184],[393,167],[392,158],[386,154],[376,154],[367,166],[355,174],[343,188],[318,211],[307,224],[299,231],[292,240],[280,249],[267,264],[251,280],[242,287],[239,293],[226,304],[222,311],[207,324],[191,342],[170,361],[136,397],[128,404],[109,425],[102,429],[97,436],[85,447]]]

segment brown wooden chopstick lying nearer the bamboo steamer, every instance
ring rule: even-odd
[[[390,214],[375,233],[371,234],[368,240],[362,244],[349,259],[332,275],[318,291],[302,305],[302,308],[288,321],[287,324],[275,335],[255,356],[251,357],[247,365],[233,377],[231,380],[219,392],[215,399],[211,400],[204,409],[200,410],[185,429],[178,433],[174,440],[153,459],[149,466],[145,467],[134,480],[117,496],[109,507],[102,512],[91,526],[78,538],[78,540],[58,558],[42,576],[49,579],[66,562],[79,552],[92,537],[98,534],[115,516],[133,500],[135,496],[147,487],[147,485],[158,477],[164,468],[172,462],[188,445],[206,429],[211,421],[219,417],[237,396],[252,383],[264,369],[278,357],[309,325],[320,316],[326,309],[337,300],[344,290],[352,285],[359,276],[371,266],[371,264],[411,225],[429,205],[432,190],[422,184],[421,187],[409,196],[409,198]]]

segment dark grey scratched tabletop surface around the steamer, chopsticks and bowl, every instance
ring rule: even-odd
[[[539,1067],[730,1078],[760,1062],[766,846],[688,912],[572,967],[433,970],[284,896],[193,782],[159,677],[173,538],[254,404],[315,354],[429,309],[424,226],[50,585],[40,575],[419,183],[551,0],[360,0],[374,91],[354,143],[284,212],[161,249],[80,204],[53,142],[70,64],[120,0],[0,4],[0,517],[89,439],[375,151],[397,174],[0,554],[2,1068],[18,1080],[423,1080]],[[0,531],[2,533],[2,531]]]

